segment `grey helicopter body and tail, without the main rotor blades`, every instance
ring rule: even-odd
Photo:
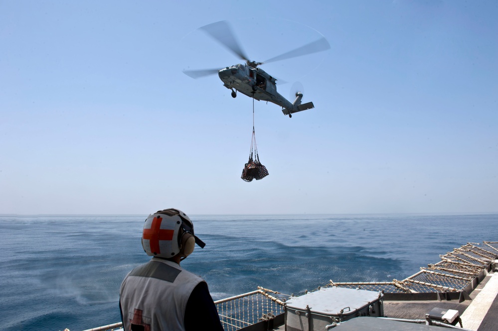
[[[218,76],[223,86],[238,91],[250,98],[271,102],[282,107],[285,115],[314,108],[313,103],[301,105],[301,93],[296,94],[294,103],[289,102],[277,92],[276,79],[260,68],[254,68],[247,64],[236,64],[218,71]]]

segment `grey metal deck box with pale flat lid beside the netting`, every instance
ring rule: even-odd
[[[380,292],[339,287],[291,297],[285,306],[287,331],[328,330],[332,323],[358,316],[384,316]]]

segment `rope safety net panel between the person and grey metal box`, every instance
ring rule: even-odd
[[[278,292],[258,286],[256,291],[218,300],[214,304],[223,329],[235,331],[283,314],[284,302],[281,296]]]

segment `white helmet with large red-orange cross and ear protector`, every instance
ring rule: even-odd
[[[206,245],[194,235],[192,221],[177,209],[166,209],[145,220],[142,247],[149,256],[171,258],[177,254],[185,258],[193,252],[195,244]]]

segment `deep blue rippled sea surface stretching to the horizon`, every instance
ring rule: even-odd
[[[146,216],[0,216],[0,330],[120,322],[119,287],[150,259]],[[195,216],[206,247],[182,267],[214,300],[263,286],[300,294],[333,281],[404,279],[467,242],[498,241],[498,214]]]

